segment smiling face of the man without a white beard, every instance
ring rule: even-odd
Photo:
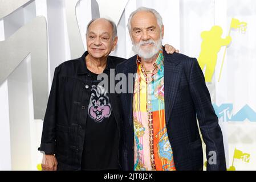
[[[96,19],[86,34],[87,51],[96,58],[104,58],[115,49],[117,37],[113,40],[113,28],[105,19]]]

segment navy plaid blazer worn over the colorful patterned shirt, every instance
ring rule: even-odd
[[[136,73],[136,56],[117,65],[116,71]],[[135,79],[133,78],[133,86]],[[128,91],[128,81],[127,84]],[[202,170],[202,139],[206,144],[208,170],[226,170],[222,131],[214,112],[205,78],[196,59],[164,51],[164,98],[165,121],[173,158],[177,170]],[[132,88],[133,90],[133,88]],[[123,170],[133,170],[133,93],[122,93],[122,114],[124,121],[121,137],[121,166]]]

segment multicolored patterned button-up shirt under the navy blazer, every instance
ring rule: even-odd
[[[133,94],[134,170],[174,171],[172,147],[165,125],[164,56],[160,51],[151,77],[137,57]]]

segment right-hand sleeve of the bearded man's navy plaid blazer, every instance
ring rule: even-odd
[[[190,69],[189,87],[196,106],[202,138],[206,144],[207,170],[226,170],[222,131],[212,106],[209,90],[205,84],[204,74],[196,59],[193,60]],[[214,159],[215,156],[216,159]],[[209,158],[211,158],[211,164]]]

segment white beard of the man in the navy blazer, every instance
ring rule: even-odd
[[[143,46],[144,44],[153,44],[153,47],[143,49],[141,48],[141,46]],[[159,53],[161,48],[162,48],[162,39],[160,36],[159,40],[157,40],[156,42],[150,39],[147,41],[141,40],[137,44],[134,43],[132,50],[141,58],[148,60],[148,59],[151,59],[153,56],[155,56],[157,53]]]

